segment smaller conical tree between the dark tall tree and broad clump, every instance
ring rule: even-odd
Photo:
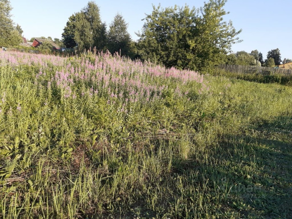
[[[128,24],[121,14],[117,14],[109,25],[107,34],[107,48],[111,53],[119,52],[121,55],[129,55],[131,46],[131,36],[128,33]]]

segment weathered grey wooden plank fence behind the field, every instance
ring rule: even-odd
[[[292,75],[292,69],[287,68],[268,68],[261,66],[249,66],[249,65],[226,65],[220,64],[220,69],[225,69],[228,72],[238,74],[283,74]]]

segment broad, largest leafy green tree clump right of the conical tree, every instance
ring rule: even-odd
[[[222,62],[239,42],[232,22],[224,22],[227,0],[210,0],[199,9],[153,6],[139,34],[139,51],[144,59],[166,67],[206,69]]]

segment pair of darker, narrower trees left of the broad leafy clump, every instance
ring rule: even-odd
[[[72,14],[62,33],[62,42],[67,48],[79,51],[95,47],[97,50],[108,49],[111,53],[121,51],[121,55],[130,55],[132,39],[128,33],[128,24],[121,14],[117,14],[106,30],[101,21],[99,7],[88,2],[80,12]]]

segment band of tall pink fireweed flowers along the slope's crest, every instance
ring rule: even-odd
[[[198,72],[168,69],[109,53],[100,53],[94,60],[88,60],[85,55],[68,59],[20,52],[1,52],[0,58],[4,60],[1,65],[38,65],[40,70],[35,75],[35,83],[44,84],[45,81],[48,89],[58,89],[65,99],[75,99],[79,95],[103,96],[112,101],[150,102],[165,98],[170,91],[173,98],[187,96],[189,91],[183,91],[181,86],[193,81],[202,84],[199,93],[208,89],[204,76]],[[49,66],[54,66],[55,70]]]

